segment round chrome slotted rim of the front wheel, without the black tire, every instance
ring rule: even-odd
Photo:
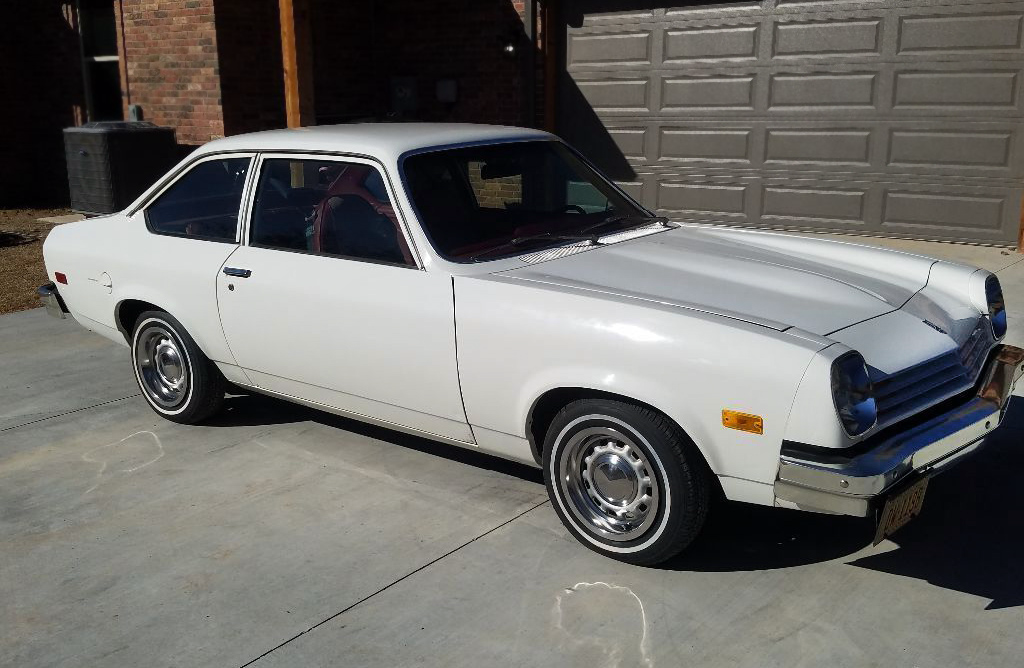
[[[569,510],[592,533],[628,541],[654,521],[657,478],[626,434],[610,426],[581,429],[569,437],[558,463]]]

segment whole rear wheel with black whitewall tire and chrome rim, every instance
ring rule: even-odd
[[[135,381],[158,415],[196,424],[220,410],[227,382],[173,316],[140,315],[130,345]]]

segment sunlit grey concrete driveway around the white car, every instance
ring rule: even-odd
[[[999,269],[1024,344],[1024,256],[912,247]],[[5,316],[0,664],[1020,665],[1022,434],[1018,400],[878,547],[724,504],[643,569],[570,539],[532,469],[260,396],[175,425],[125,348]]]

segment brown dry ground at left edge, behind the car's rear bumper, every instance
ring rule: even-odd
[[[0,209],[0,314],[34,308],[36,288],[46,283],[43,240],[53,226],[36,218],[68,209]]]

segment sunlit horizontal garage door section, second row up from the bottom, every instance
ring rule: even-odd
[[[634,165],[667,170],[727,168],[837,172],[889,178],[954,176],[1013,185],[1024,149],[1016,122],[881,123],[690,119],[608,121],[615,145]]]

